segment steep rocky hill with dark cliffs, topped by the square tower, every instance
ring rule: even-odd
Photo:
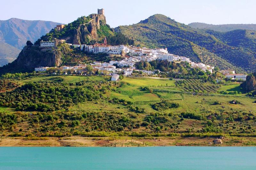
[[[41,40],[51,41],[57,38],[72,44],[93,44],[97,41],[102,42],[105,37],[108,37],[108,44],[133,44],[133,41],[123,34],[114,33],[113,29],[106,24],[104,15],[91,14],[77,18],[61,31],[51,30],[41,36],[35,42],[35,46],[25,46],[15,61],[0,68],[0,73],[28,72],[39,66],[60,66],[63,61],[67,62],[75,57],[75,50],[70,49],[66,43],[59,45],[56,49],[41,49],[39,47]]]

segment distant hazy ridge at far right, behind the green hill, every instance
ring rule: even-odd
[[[213,24],[205,24],[205,23],[200,23],[200,22],[193,22],[193,23],[188,24],[188,26],[190,26],[192,28],[199,28],[199,29],[211,29],[211,30],[219,31],[219,32],[227,32],[227,31],[233,31],[233,30],[238,30],[238,29],[256,31],[256,24],[213,25]]]

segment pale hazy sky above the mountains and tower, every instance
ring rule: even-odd
[[[20,18],[69,23],[105,9],[111,27],[138,23],[156,13],[178,22],[256,24],[256,0],[0,0],[0,20]]]

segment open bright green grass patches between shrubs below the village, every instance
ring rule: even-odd
[[[99,77],[99,76],[92,76],[92,77],[83,77],[83,76],[59,76],[64,79],[64,82],[76,82],[80,80],[88,79],[89,82],[99,82],[99,81],[107,81],[109,77]],[[21,80],[21,83],[24,82],[34,82],[34,81],[52,81],[52,76],[39,76],[34,78],[28,78]],[[233,113],[252,113],[255,114],[256,104],[253,103],[255,99],[251,98],[244,98],[243,96],[230,96],[226,95],[223,97],[220,96],[200,96],[200,95],[191,95],[191,94],[178,94],[178,93],[168,93],[168,92],[154,92],[149,93],[145,91],[141,91],[141,87],[150,87],[150,88],[158,88],[158,89],[165,89],[170,91],[180,91],[180,88],[177,88],[174,84],[175,80],[169,79],[153,79],[153,78],[129,78],[125,77],[121,82],[127,83],[121,88],[117,88],[116,92],[107,92],[104,94],[105,97],[117,97],[119,99],[125,99],[128,101],[133,102],[133,106],[137,106],[140,108],[145,108],[145,113],[143,114],[136,114],[136,118],[132,120],[134,122],[142,122],[146,115],[149,113],[157,113],[157,114],[169,114],[172,113],[174,117],[170,119],[169,123],[178,123],[180,113],[182,112],[194,112],[198,114],[202,114],[203,116],[207,116],[210,114],[224,114],[224,115],[232,115]],[[220,87],[220,90],[225,91],[233,91],[237,89],[237,85],[223,85]],[[231,100],[238,100],[241,101],[241,105],[232,105],[229,104]],[[161,111],[156,111],[152,109],[151,105],[161,100],[169,100],[171,102],[179,103],[180,107],[178,108],[171,108]],[[213,105],[215,101],[219,101],[221,105]],[[15,113],[14,108],[6,108],[0,107],[0,111],[8,112],[8,113]],[[134,114],[131,112],[127,107],[120,105],[120,104],[112,104],[109,103],[107,100],[99,100],[99,101],[87,101],[79,103],[78,105],[74,105],[69,110],[70,113],[84,113],[84,112],[94,112],[94,113],[103,113],[103,112],[118,112],[122,113],[123,116],[128,116],[129,114]],[[19,114],[28,115],[30,112],[19,112]],[[32,112],[36,114],[37,112]],[[52,112],[50,114],[55,114]],[[175,115],[177,115],[175,117]],[[217,121],[218,123],[222,123],[220,120]],[[243,128],[244,126],[248,126],[248,124],[253,124],[254,120],[246,121],[246,122],[230,122],[229,124],[224,124],[223,129],[224,133],[232,132],[232,133],[239,133],[241,130],[240,127]],[[233,124],[236,124],[236,129],[232,129]],[[44,123],[41,123],[38,126],[43,126]],[[83,123],[82,123],[83,125]],[[27,127],[31,126],[29,122],[22,122],[17,124],[15,131],[18,131],[20,128],[23,130],[27,130]],[[166,129],[162,129],[161,132],[163,133],[171,133],[171,132],[178,132],[184,133],[187,131],[188,128],[193,128],[193,132],[200,131],[204,128],[205,122],[204,121],[196,121],[194,119],[184,119],[179,124],[178,129],[170,129],[170,127],[166,127]],[[28,131],[33,131],[34,128],[31,128]],[[79,128],[78,128],[79,129]],[[82,130],[82,129],[80,129]],[[82,130],[83,131],[83,130]],[[127,129],[125,130],[127,131]],[[139,129],[133,129],[133,132],[143,132],[146,131],[148,133],[155,133],[154,130],[145,129],[144,127],[140,127]],[[5,131],[5,133],[10,133]]]

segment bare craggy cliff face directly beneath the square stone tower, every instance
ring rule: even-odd
[[[67,42],[72,44],[89,44],[90,41],[99,41],[100,38],[97,30],[100,26],[106,25],[106,17],[99,14],[91,14],[91,20],[88,23],[81,24],[77,29],[74,30],[72,37],[68,37]]]

